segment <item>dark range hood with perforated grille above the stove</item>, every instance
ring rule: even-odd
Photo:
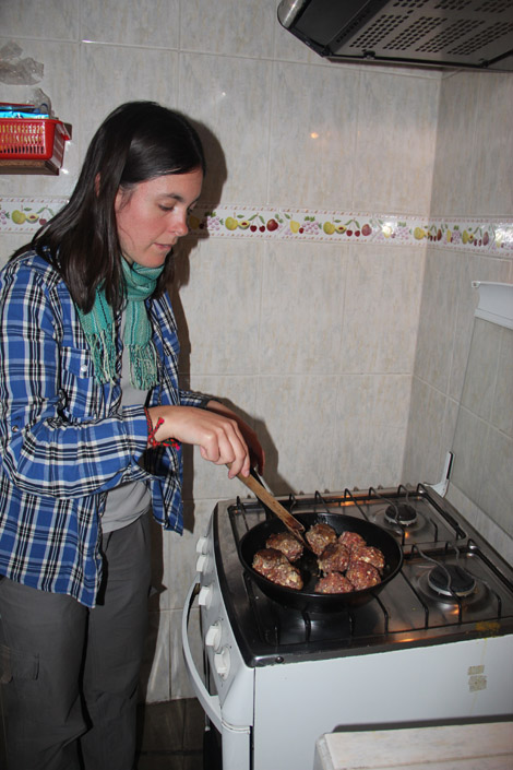
[[[282,0],[277,13],[331,61],[513,72],[512,0]]]

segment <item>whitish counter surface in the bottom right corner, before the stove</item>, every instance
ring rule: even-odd
[[[313,770],[512,770],[513,722],[322,735]]]

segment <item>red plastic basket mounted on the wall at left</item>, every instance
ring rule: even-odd
[[[60,168],[67,139],[70,134],[60,120],[2,118],[0,159],[49,161]]]

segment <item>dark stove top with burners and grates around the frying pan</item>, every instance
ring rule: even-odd
[[[423,485],[278,498],[291,513],[339,513],[387,531],[404,560],[363,606],[315,614],[265,595],[239,559],[242,536],[269,516],[252,498],[212,518],[216,571],[249,666],[365,654],[513,633],[513,569],[448,501]]]

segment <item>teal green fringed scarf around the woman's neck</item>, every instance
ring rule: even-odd
[[[162,268],[142,268],[121,259],[126,289],[123,342],[129,351],[130,380],[138,390],[150,390],[157,382],[157,353],[152,342],[152,324],[144,300],[155,291]],[[95,377],[100,384],[116,380],[116,328],[112,308],[103,288],[90,312],[77,308],[79,318],[93,355]]]

